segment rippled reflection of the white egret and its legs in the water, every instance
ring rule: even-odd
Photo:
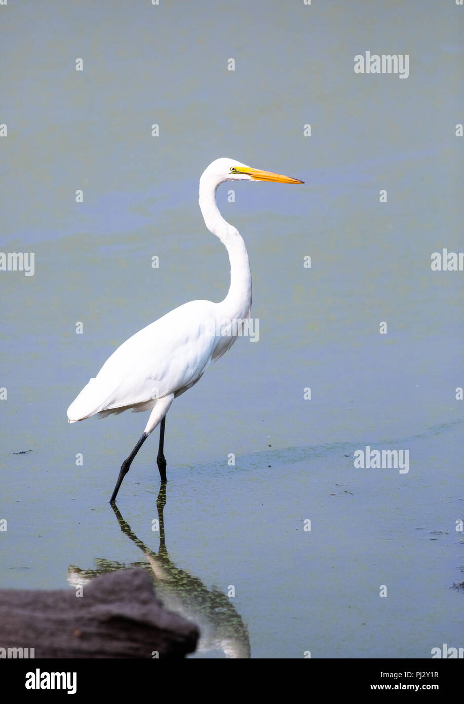
[[[156,501],[160,530],[158,553],[153,552],[137,538],[117,506],[111,504],[120,529],[140,548],[148,562],[142,560],[125,565],[99,558],[95,560],[95,570],[81,570],[79,567],[70,565],[68,567],[69,584],[71,586],[87,584],[94,577],[99,577],[106,572],[141,567],[149,572],[156,596],[163,602],[165,608],[184,616],[199,627],[200,639],[196,653],[208,653],[211,656],[213,655],[211,651],[219,650],[226,658],[249,658],[248,630],[230,599],[218,589],[207,589],[201,579],[176,567],[170,560],[165,542],[163,519],[165,503],[166,484],[163,483]]]

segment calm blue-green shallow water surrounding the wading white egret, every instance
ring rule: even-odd
[[[142,563],[200,625],[201,658],[463,646],[463,272],[430,269],[463,249],[463,44],[459,8],[406,5],[8,6],[1,249],[34,251],[35,275],[0,272],[1,586]],[[408,51],[408,80],[355,75],[365,49]],[[225,296],[197,188],[227,154],[306,182],[218,191],[249,249],[260,339],[170,409],[164,508],[156,431],[115,515],[146,414],[70,426],[65,410],[138,329]],[[409,472],[356,469],[366,445],[408,450]]]

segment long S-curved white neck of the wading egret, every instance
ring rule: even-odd
[[[230,260],[230,288],[221,303],[225,318],[248,318],[251,309],[251,271],[245,243],[238,230],[230,225],[216,205],[218,184],[206,177],[200,179],[200,208],[208,230],[220,239]]]

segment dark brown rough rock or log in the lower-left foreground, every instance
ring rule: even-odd
[[[75,591],[0,590],[0,646],[35,658],[183,658],[195,624],[166,610],[143,570],[97,577]]]

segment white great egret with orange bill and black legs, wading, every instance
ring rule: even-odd
[[[235,227],[222,218],[215,194],[224,181],[303,183],[270,171],[253,169],[233,159],[211,163],[200,178],[200,208],[206,227],[227,249],[230,288],[220,303],[190,301],[144,327],[113,352],[94,379],[68,408],[74,423],[91,415],[151,410],[144,434],[121,466],[111,503],[132,460],[149,434],[161,422],[156,463],[166,482],[164,456],[165,415],[173,400],[194,386],[211,364],[237,339],[250,317],[251,272],[245,243]]]

